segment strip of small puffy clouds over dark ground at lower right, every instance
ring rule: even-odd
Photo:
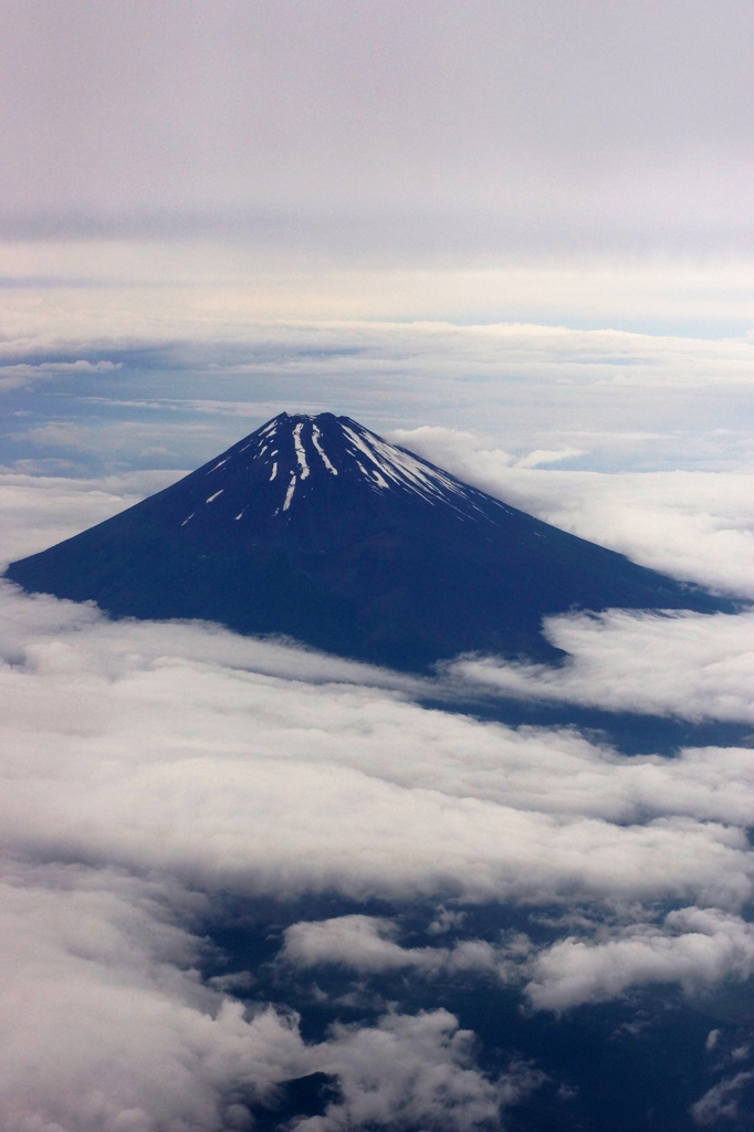
[[[565,923],[565,920],[564,920]],[[718,908],[688,907],[659,920],[617,926],[588,918],[581,937],[535,943],[508,933],[494,944],[465,938],[446,946],[404,946],[399,924],[384,917],[350,915],[301,921],[285,929],[280,958],[299,967],[342,966],[361,975],[413,971],[492,975],[522,986],[534,1010],[563,1012],[585,1003],[618,998],[637,986],[676,984],[687,994],[754,972],[754,926]],[[706,1048],[719,1031],[708,1036]],[[743,1048],[746,1057],[748,1049]],[[735,1055],[734,1056],[735,1060]]]

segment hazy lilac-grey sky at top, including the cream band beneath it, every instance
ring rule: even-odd
[[[746,318],[745,0],[1,7],[8,277],[232,282],[275,317]],[[656,269],[675,295],[642,297]]]

